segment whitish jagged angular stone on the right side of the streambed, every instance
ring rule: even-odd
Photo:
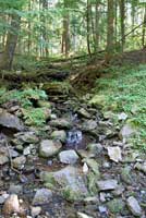
[[[107,147],[108,156],[114,162],[119,162],[122,160],[121,148],[120,147]]]

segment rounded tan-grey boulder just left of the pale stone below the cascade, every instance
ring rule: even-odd
[[[57,155],[62,147],[59,141],[44,140],[40,143],[39,156],[44,158],[52,157]]]

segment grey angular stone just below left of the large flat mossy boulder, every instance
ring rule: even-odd
[[[36,191],[33,199],[33,205],[44,205],[48,204],[52,198],[52,192],[48,189],[40,189]]]

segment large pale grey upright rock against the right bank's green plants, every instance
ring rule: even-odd
[[[135,133],[135,129],[132,126],[132,124],[126,123],[122,130],[119,133],[119,137],[120,140],[127,140],[130,138],[134,133]]]

